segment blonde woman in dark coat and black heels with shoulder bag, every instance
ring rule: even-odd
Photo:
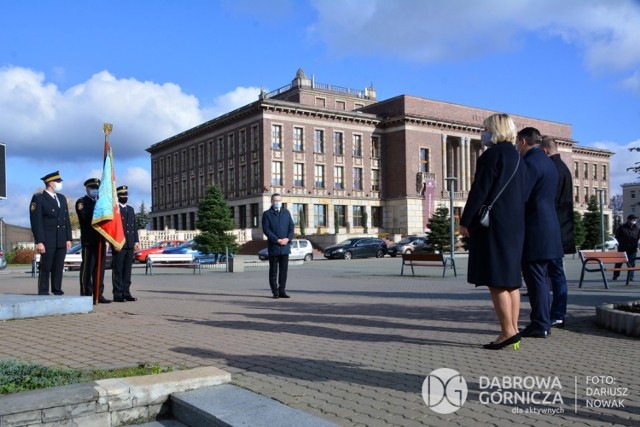
[[[498,338],[483,347],[499,350],[513,345],[517,348],[526,166],[513,146],[517,130],[509,115],[494,114],[487,117],[483,125],[481,140],[490,148],[477,160],[460,218],[460,234],[469,237],[467,281],[489,287],[500,322]],[[484,227],[478,212],[483,205],[491,203],[490,224]]]

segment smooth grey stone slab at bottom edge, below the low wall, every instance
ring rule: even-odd
[[[336,427],[322,418],[230,384],[171,395],[175,419],[189,426]]]

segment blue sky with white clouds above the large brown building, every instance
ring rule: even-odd
[[[117,184],[151,204],[150,145],[288,84],[316,81],[573,126],[606,148],[611,193],[638,177],[640,2],[632,0],[0,0],[0,217],[100,176],[113,123]]]

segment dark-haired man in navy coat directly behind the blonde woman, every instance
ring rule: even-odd
[[[525,204],[522,276],[531,304],[531,323],[520,336],[535,338],[546,338],[550,333],[549,264],[563,256],[555,204],[558,171],[540,148],[541,142],[540,132],[532,127],[522,129],[516,136],[516,148],[527,165],[529,190]]]

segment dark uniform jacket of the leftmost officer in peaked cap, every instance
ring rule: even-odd
[[[67,241],[72,240],[67,199],[62,194],[56,197],[60,206],[46,191],[34,194],[29,205],[33,238],[45,248],[66,248]]]

